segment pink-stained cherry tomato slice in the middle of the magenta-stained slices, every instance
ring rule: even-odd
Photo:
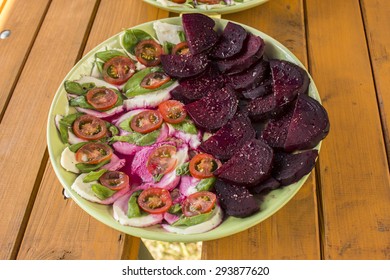
[[[172,145],[165,145],[154,149],[146,163],[149,173],[153,176],[159,176],[171,172],[177,162],[175,155],[176,147]]]

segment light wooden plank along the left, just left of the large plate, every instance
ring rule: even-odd
[[[0,216],[0,259],[16,257],[47,160],[47,112],[80,52],[95,4],[52,1],[0,124],[0,212],[6,213]]]

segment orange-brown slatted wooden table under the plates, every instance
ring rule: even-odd
[[[2,0],[0,11],[0,31],[11,31],[0,40],[0,259],[137,258],[139,238],[63,198],[47,115],[83,54],[123,28],[174,15],[140,0]],[[390,259],[389,14],[387,0],[271,0],[223,16],[307,65],[331,131],[299,193],[265,222],[204,242],[204,259]]]

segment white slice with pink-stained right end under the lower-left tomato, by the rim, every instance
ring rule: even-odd
[[[71,188],[74,190],[79,196],[82,198],[89,200],[91,202],[96,202],[99,204],[112,204],[114,203],[118,198],[129,192],[130,186],[127,186],[126,188],[123,188],[119,191],[117,191],[113,196],[101,200],[98,198],[95,193],[92,191],[92,185],[98,184],[98,181],[92,181],[90,183],[84,183],[83,179],[85,176],[87,176],[88,173],[83,173],[79,175],[76,180],[73,182]]]

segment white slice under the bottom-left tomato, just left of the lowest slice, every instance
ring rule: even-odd
[[[163,214],[149,214],[137,218],[127,217],[128,201],[132,192],[124,195],[113,204],[113,216],[121,225],[132,227],[149,227],[159,224],[163,220]]]

